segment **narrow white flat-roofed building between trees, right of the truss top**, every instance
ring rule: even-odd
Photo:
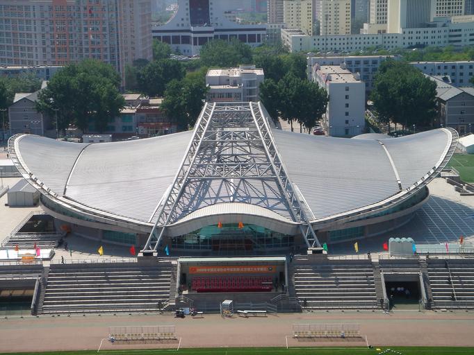
[[[313,81],[329,94],[322,126],[327,135],[353,137],[365,130],[366,90],[359,75],[342,65],[313,66]]]

